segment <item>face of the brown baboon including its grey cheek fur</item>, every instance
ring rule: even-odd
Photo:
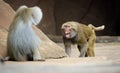
[[[70,25],[65,25],[62,28],[63,37],[70,39],[77,35],[77,31],[74,28],[71,28]]]

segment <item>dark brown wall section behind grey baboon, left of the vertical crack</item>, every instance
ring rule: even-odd
[[[4,0],[4,1],[10,4],[14,10],[17,10],[17,8],[21,5],[40,6],[43,12],[43,18],[38,27],[45,34],[55,35],[56,25],[53,14],[54,0]]]

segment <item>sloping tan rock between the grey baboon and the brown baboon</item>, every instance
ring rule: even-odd
[[[41,30],[33,25],[34,30],[42,39],[41,43],[41,55],[45,58],[61,58],[66,57],[66,53],[63,48],[51,41]]]

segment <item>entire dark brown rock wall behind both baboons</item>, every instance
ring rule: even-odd
[[[99,35],[120,35],[119,0],[4,0],[14,10],[21,5],[40,6],[43,19],[38,27],[48,35],[61,35],[61,25],[77,21],[95,26],[105,25]]]

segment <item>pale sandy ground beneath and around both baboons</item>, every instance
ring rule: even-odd
[[[63,44],[58,45],[64,48]],[[120,43],[96,43],[96,57],[87,58],[79,58],[76,46],[72,48],[71,58],[7,61],[0,64],[0,73],[120,73]]]

